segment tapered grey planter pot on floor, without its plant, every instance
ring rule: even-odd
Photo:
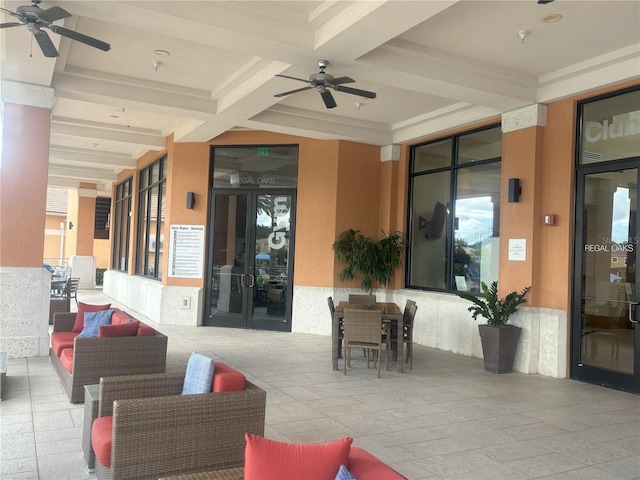
[[[514,325],[492,327],[478,325],[482,341],[484,369],[492,373],[508,373],[513,370],[521,328]]]

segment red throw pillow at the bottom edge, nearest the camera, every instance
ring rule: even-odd
[[[245,439],[244,480],[334,479],[340,465],[349,462],[353,441],[352,438],[343,438],[323,444],[294,444],[250,433],[245,434]]]

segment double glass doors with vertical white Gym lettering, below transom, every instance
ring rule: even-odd
[[[295,192],[212,195],[205,325],[291,331]]]

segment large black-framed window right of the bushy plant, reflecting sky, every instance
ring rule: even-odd
[[[412,150],[407,287],[479,291],[498,278],[499,126]]]

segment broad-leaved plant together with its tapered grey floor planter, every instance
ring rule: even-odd
[[[481,282],[480,286],[484,298],[462,291],[457,294],[460,298],[473,302],[468,310],[474,320],[477,320],[478,316],[487,320],[486,324],[478,325],[485,370],[507,373],[513,370],[521,332],[520,327],[507,323],[518,306],[526,303],[525,297],[531,287],[526,287],[521,292],[510,292],[501,300],[498,297],[498,282],[492,282],[490,287]]]

